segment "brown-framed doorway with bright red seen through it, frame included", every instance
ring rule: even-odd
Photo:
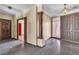
[[[17,39],[25,43],[27,39],[27,18],[23,17],[17,20]]]

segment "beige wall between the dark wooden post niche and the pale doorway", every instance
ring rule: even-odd
[[[43,38],[47,40],[51,37],[51,17],[43,14]]]

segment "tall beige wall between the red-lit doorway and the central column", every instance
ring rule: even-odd
[[[36,6],[27,15],[27,42],[36,45]]]

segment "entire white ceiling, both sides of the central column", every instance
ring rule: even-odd
[[[0,12],[15,15],[34,5],[35,4],[0,4]],[[8,6],[12,7],[12,9],[9,9]],[[50,16],[58,16],[62,14],[64,4],[43,4],[43,8]],[[67,4],[68,12],[76,9],[79,9],[79,4]]]

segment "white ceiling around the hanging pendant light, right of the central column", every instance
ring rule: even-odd
[[[50,16],[58,16],[63,13],[64,4],[44,4],[43,8]],[[67,12],[79,9],[79,4],[67,4]]]

